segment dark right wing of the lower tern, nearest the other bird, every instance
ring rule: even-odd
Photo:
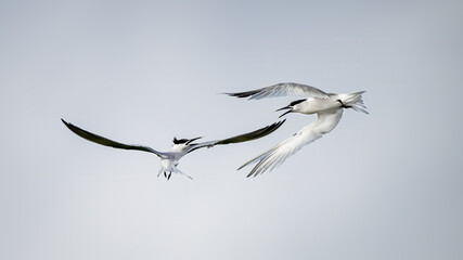
[[[203,148],[203,147],[213,147],[214,145],[219,145],[219,144],[242,143],[242,142],[247,142],[247,141],[260,139],[260,138],[263,138],[263,136],[272,133],[274,130],[279,129],[284,123],[285,120],[286,119],[284,119],[282,121],[273,122],[272,125],[257,129],[256,131],[235,135],[232,138],[228,138],[228,139],[223,139],[223,140],[215,140],[215,141],[209,141],[209,142],[204,142],[204,143],[191,144],[190,147],[188,148],[187,153],[191,153],[195,150]]]

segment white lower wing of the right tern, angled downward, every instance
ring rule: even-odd
[[[256,177],[268,169],[270,169],[270,171],[273,170],[283,164],[287,157],[297,153],[303,146],[316,141],[323,136],[324,133],[333,130],[339,122],[342,116],[343,108],[318,113],[318,118],[314,122],[303,128],[293,136],[284,140],[263,154],[247,161],[241,166],[239,170],[253,162],[257,162],[257,165],[253,168],[249,174],[247,174],[247,177]]]

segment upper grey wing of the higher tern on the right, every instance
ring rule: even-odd
[[[249,98],[249,100],[260,100],[274,96],[310,96],[318,99],[329,99],[329,95],[320,89],[307,84],[294,82],[278,83],[270,87],[236,93],[226,93],[236,98]]]

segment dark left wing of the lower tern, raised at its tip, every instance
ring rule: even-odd
[[[90,142],[98,143],[98,144],[101,144],[104,146],[114,147],[114,148],[138,150],[138,151],[149,152],[149,153],[153,153],[153,154],[159,156],[160,158],[166,158],[168,156],[167,153],[157,152],[157,151],[155,151],[151,147],[147,147],[147,146],[118,143],[118,142],[115,142],[113,140],[100,136],[100,135],[91,133],[89,131],[86,131],[81,128],[78,128],[78,127],[74,126],[73,123],[69,123],[69,122],[63,120],[63,118],[61,120],[75,134],[79,135],[82,139],[86,139]]]

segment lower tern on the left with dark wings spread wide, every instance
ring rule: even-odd
[[[164,173],[164,177],[167,180],[170,179],[172,173],[180,173],[180,174],[183,174],[190,179],[193,179],[190,176],[187,176],[185,173],[180,171],[177,168],[177,166],[179,164],[179,160],[183,156],[185,156],[187,154],[189,154],[195,150],[203,148],[203,147],[213,147],[213,146],[219,145],[219,144],[241,143],[241,142],[252,141],[255,139],[260,139],[260,138],[266,136],[267,134],[270,134],[271,132],[273,132],[278,128],[280,128],[281,125],[283,125],[283,122],[285,121],[285,120],[281,120],[281,121],[274,122],[270,126],[255,130],[253,132],[240,134],[236,136],[222,139],[222,140],[208,141],[208,142],[203,142],[203,143],[193,143],[194,141],[202,139],[203,136],[194,138],[194,139],[177,139],[177,138],[173,138],[173,144],[172,144],[171,150],[169,152],[158,152],[152,147],[144,146],[144,145],[119,143],[119,142],[100,136],[98,134],[91,133],[89,131],[86,131],[86,130],[78,128],[78,127],[76,127],[76,126],[74,126],[74,125],[72,125],[72,123],[69,123],[63,119],[61,119],[61,120],[75,134],[79,135],[82,139],[86,139],[90,142],[98,143],[98,144],[101,144],[104,146],[111,146],[114,148],[137,150],[137,151],[149,152],[149,153],[153,153],[153,154],[157,155],[160,158],[160,169],[159,169],[159,172],[157,173],[157,176],[159,177],[160,173]]]

